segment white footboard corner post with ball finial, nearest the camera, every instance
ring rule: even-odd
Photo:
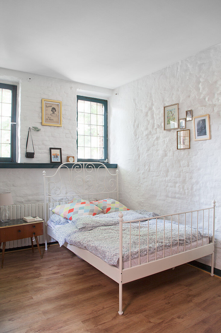
[[[123,213],[119,213],[119,315],[122,311],[122,269],[123,269]]]

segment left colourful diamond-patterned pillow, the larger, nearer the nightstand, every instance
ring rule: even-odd
[[[74,199],[64,205],[51,208],[51,211],[72,221],[78,216],[97,215],[102,212],[102,209],[89,201]]]

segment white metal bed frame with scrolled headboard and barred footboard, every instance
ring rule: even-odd
[[[51,215],[51,211],[48,209],[54,204],[60,202],[68,202],[74,196],[81,197],[85,200],[92,199],[104,199],[104,195],[106,197],[110,197],[110,194],[115,195],[118,200],[118,170],[116,170],[116,174],[110,173],[107,166],[103,163],[95,163],[97,168],[93,163],[90,162],[82,162],[82,163],[63,163],[60,165],[56,172],[52,176],[46,176],[46,172],[43,171],[43,180],[44,180],[44,220],[45,223]],[[64,184],[61,175],[61,169],[65,168],[68,172],[68,181],[69,183]],[[103,172],[103,181],[99,178],[100,169],[104,169]],[[93,174],[94,173],[94,174]],[[47,179],[53,178],[54,176],[58,176],[59,184],[57,184],[53,180]],[[79,189],[80,188],[80,189]],[[89,197],[89,198],[88,198]],[[212,210],[212,242],[209,243],[209,215]],[[163,258],[157,258],[157,219],[163,219],[165,223],[165,217],[171,216],[171,239],[172,239],[172,218],[174,216],[178,216],[178,225],[180,225],[179,220],[180,216],[184,215],[184,228],[186,230],[186,214],[191,214],[191,230],[192,230],[192,214],[194,212],[197,213],[197,238],[198,238],[198,214],[199,212],[203,213],[203,225],[204,228],[204,212],[208,211],[208,244],[199,245],[196,240],[196,248],[192,248],[192,239],[190,243],[190,249],[186,250],[186,244],[184,240],[184,250],[179,252],[179,226],[178,226],[178,253],[172,254],[172,242],[171,242],[171,252],[169,256],[164,256],[165,248],[163,249]],[[167,214],[157,217],[151,218],[142,218],[138,220],[131,221],[123,221],[123,213],[119,213],[119,268],[109,265],[93,253],[88,250],[79,248],[75,245],[71,245],[65,243],[64,246],[74,252],[76,255],[90,263],[95,268],[99,269],[101,272],[109,276],[115,282],[119,284],[119,315],[123,314],[122,311],[122,285],[124,283],[137,280],[170,268],[174,268],[176,266],[182,265],[192,260],[199,259],[206,255],[211,254],[211,276],[214,276],[214,233],[215,233],[215,200],[213,200],[212,207],[186,211],[182,213],[175,214]],[[141,264],[140,263],[140,248],[139,248],[139,261],[138,265],[131,267],[131,253],[129,259],[129,267],[123,269],[123,253],[122,253],[122,227],[124,223],[130,223],[130,231],[131,231],[131,223],[137,222],[139,223],[139,244],[140,244],[140,223],[141,221],[148,221],[148,234],[147,234],[147,242],[149,241],[149,220],[156,219],[156,256],[154,261],[148,261],[148,253],[147,253],[147,262]],[[165,224],[164,224],[165,226]],[[45,250],[47,250],[47,235],[46,235],[46,227],[47,234],[52,238],[56,239],[55,234],[53,233],[53,229],[45,224]],[[204,228],[205,230],[205,228]],[[165,228],[164,228],[165,233]],[[164,234],[165,235],[165,234]],[[185,237],[184,237],[185,239]],[[131,233],[130,233],[130,243],[131,243]],[[149,247],[149,243],[147,245],[147,249]],[[130,250],[130,244],[129,244]],[[148,250],[147,250],[148,252]]]

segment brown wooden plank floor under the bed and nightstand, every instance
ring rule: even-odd
[[[0,332],[221,332],[221,279],[182,265],[123,285],[58,245],[5,254]]]

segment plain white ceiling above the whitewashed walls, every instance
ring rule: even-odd
[[[220,0],[0,0],[0,67],[107,88],[221,42]]]

